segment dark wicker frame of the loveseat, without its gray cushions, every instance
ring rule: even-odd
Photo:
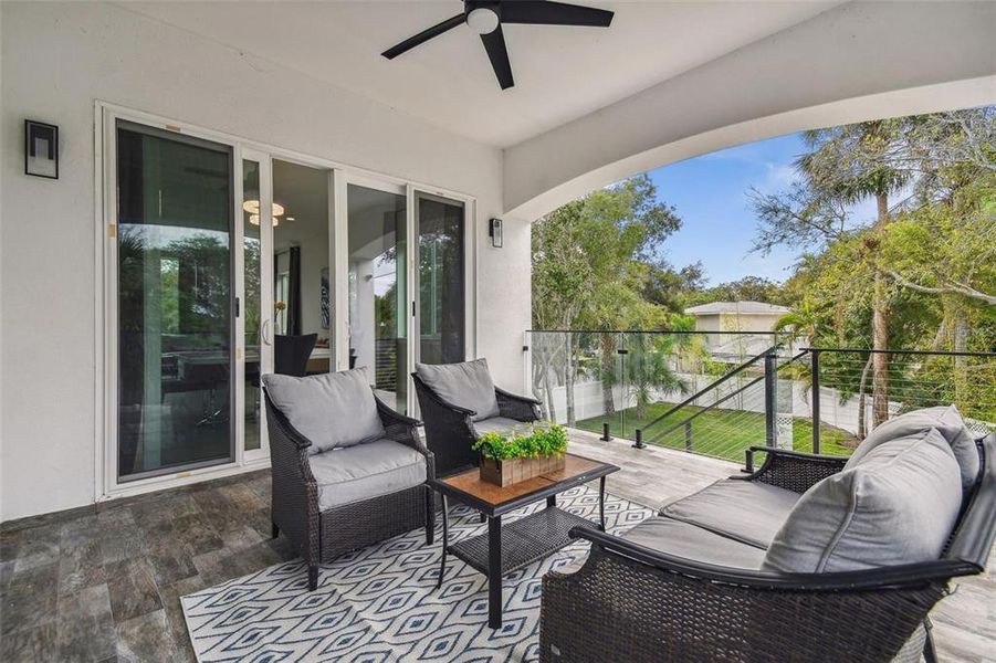
[[[996,435],[942,557],[866,571],[780,575],[700,564],[577,527],[584,566],[543,579],[539,660],[934,661],[921,629],[948,581],[984,570],[996,535]],[[841,459],[757,448],[744,481],[801,492]]]

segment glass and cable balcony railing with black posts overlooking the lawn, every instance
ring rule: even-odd
[[[850,455],[888,419],[952,403],[979,436],[996,430],[996,352],[793,351],[736,332],[531,332],[525,349],[547,417],[635,446]]]

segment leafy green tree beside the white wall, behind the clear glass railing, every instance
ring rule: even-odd
[[[616,339],[622,328],[665,326],[668,312],[642,293],[660,244],[681,227],[670,206],[658,200],[646,175],[599,189],[554,210],[533,224],[533,326],[536,329],[604,330],[595,335],[600,361],[593,367],[611,402]],[[563,339],[563,340],[560,340]],[[545,339],[534,361],[534,385],[546,386],[562,365],[567,388],[568,424],[574,424],[574,380],[578,373],[577,344],[591,335],[566,334]],[[535,344],[534,344],[535,346]],[[553,415],[553,412],[551,412]]]

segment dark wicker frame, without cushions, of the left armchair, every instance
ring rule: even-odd
[[[432,492],[426,485],[319,511],[318,485],[311,469],[313,456],[307,453],[312,443],[294,430],[265,389],[263,393],[273,476],[273,536],[283,532],[304,557],[308,566],[308,590],[314,591],[318,586],[319,564],[352,550],[419,527],[426,528],[426,543],[432,544],[436,509]],[[426,456],[427,480],[432,478],[433,456],[419,438],[419,421],[395,412],[379,399],[377,412],[386,438]]]

